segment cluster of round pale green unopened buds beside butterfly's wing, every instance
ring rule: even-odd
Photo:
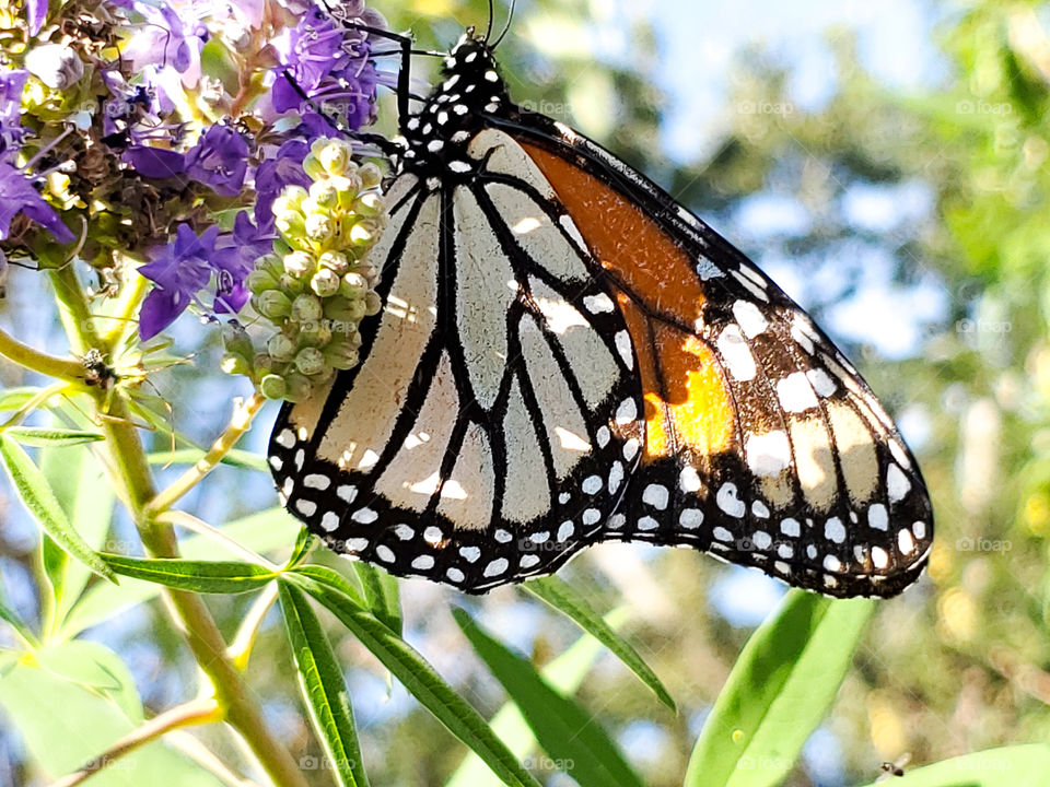
[[[247,279],[256,312],[279,329],[253,359],[259,389],[291,401],[358,364],[358,326],[381,308],[366,257],[386,223],[380,169],[355,164],[348,142],[316,140],[303,168],[313,184],[275,201],[280,239]]]

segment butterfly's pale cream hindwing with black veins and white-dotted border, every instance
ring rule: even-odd
[[[470,154],[497,177],[393,185],[382,318],[358,367],[284,407],[270,462],[330,547],[478,591],[592,540],[639,461],[642,401],[623,317],[549,185],[517,145],[481,134]]]

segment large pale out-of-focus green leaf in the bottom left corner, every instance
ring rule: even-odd
[[[0,673],[0,707],[33,771],[51,782],[98,756],[142,719],[127,668],[97,643],[65,643],[10,662]],[[46,665],[46,666],[45,666]],[[221,787],[200,765],[152,741],[92,775],[92,787]]]

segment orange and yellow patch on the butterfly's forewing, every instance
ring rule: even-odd
[[[726,451],[736,433],[728,386],[711,348],[691,333],[653,320],[675,315],[702,328],[705,301],[692,260],[638,207],[583,169],[522,143],[565,205],[591,250],[642,303],[616,291],[638,356],[645,399],[643,461]]]

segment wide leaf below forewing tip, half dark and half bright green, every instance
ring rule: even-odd
[[[789,590],[736,660],[693,747],[685,787],[779,785],[838,694],[875,604]]]

